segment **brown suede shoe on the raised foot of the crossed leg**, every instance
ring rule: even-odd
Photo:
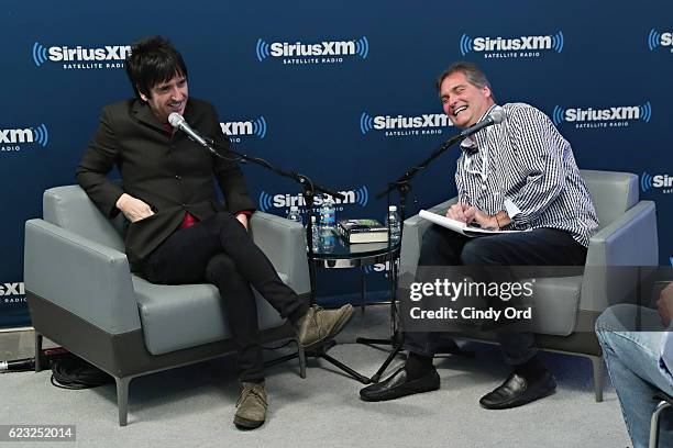
[[[345,304],[339,310],[323,310],[311,306],[297,322],[297,337],[305,349],[331,340],[353,317],[353,305]]]

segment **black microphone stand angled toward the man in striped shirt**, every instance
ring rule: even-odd
[[[405,172],[394,182],[389,182],[388,187],[385,190],[376,193],[376,199],[382,199],[384,195],[388,195],[388,203],[389,203],[390,193],[394,190],[397,190],[399,192],[400,255],[401,255],[401,242],[402,242],[404,228],[405,228],[405,219],[406,219],[407,194],[411,190],[411,180],[418,173],[418,171],[427,168],[428,165],[432,163],[432,160],[438,158],[446,149],[449,149],[451,146],[455,145],[457,142],[462,141],[463,138],[465,138],[465,132],[460,133],[449,138],[446,142],[442,143],[428,158],[426,158],[420,164],[411,167],[407,172]],[[388,229],[388,234],[389,234],[389,229]],[[390,238],[388,238],[388,250],[389,249],[390,249]],[[398,326],[398,311],[397,311],[397,304],[396,304],[397,289],[398,289],[398,282],[399,282],[398,270],[399,270],[398,264],[391,261],[390,264],[390,318],[391,318],[391,324],[393,324],[393,335],[388,339],[371,339],[371,338],[364,338],[364,337],[358,337],[357,339],[355,339],[357,344],[390,345],[394,347],[393,351],[390,351],[390,354],[388,355],[384,363],[378,368],[376,373],[374,373],[374,376],[369,379],[369,382],[372,383],[376,383],[379,381],[383,373],[386,371],[390,362],[393,362],[397,354],[401,350],[402,345],[405,344],[405,333],[400,332],[399,326]],[[446,347],[443,351],[452,352],[456,355],[465,355],[463,351],[461,351],[461,349],[457,346],[455,346],[455,343],[453,344],[453,346]]]

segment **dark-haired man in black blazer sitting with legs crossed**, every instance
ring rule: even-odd
[[[351,305],[309,306],[288,288],[247,234],[255,206],[229,153],[214,108],[189,98],[187,67],[165,40],[137,42],[126,59],[136,98],[108,105],[77,180],[107,216],[122,212],[131,269],[154,283],[213,283],[223,299],[242,382],[234,424],[255,428],[267,407],[257,310],[251,285],[298,332],[305,347],[334,337]],[[212,156],[168,124],[173,112],[213,136],[227,158]],[[108,178],[117,165],[122,184]],[[227,208],[216,197],[214,179]]]

